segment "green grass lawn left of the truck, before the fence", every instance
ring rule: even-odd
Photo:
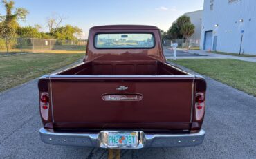
[[[0,57],[0,91],[51,73],[83,56],[84,53],[30,53]]]

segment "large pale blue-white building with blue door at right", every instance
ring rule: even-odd
[[[205,0],[200,48],[256,55],[256,1]]]

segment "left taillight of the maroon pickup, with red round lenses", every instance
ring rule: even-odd
[[[48,93],[40,93],[40,112],[44,120],[48,120],[49,105]]]

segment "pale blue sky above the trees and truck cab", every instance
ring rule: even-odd
[[[109,24],[145,24],[167,31],[172,22],[185,12],[203,9],[203,0],[14,0],[15,7],[29,11],[21,26],[42,26],[51,15],[65,17],[62,25],[71,24],[83,30],[87,39],[89,28]],[[3,4],[0,14],[3,15]]]

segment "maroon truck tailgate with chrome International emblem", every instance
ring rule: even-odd
[[[53,124],[55,129],[188,130],[193,82],[194,77],[185,76],[55,75],[51,77]]]

